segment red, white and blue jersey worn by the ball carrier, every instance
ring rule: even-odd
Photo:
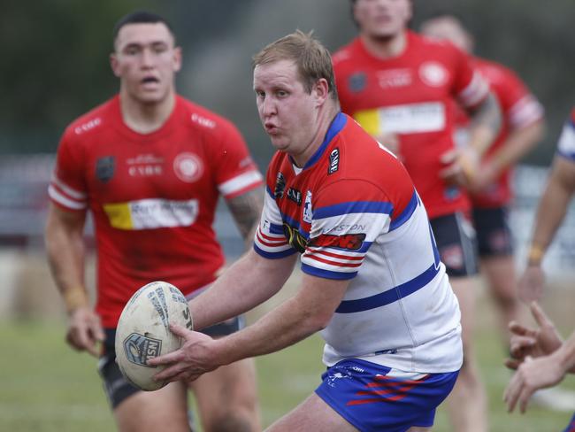
[[[350,280],[321,332],[324,362],[366,359],[403,371],[458,370],[460,313],[426,209],[403,165],[345,114],[298,168],[272,158],[254,249],[300,252],[302,270]]]

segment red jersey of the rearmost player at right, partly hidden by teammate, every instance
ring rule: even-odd
[[[524,82],[509,68],[483,58],[473,58],[473,64],[489,85],[502,110],[502,127],[495,142],[489,147],[485,160],[501,150],[513,130],[528,127],[543,119],[544,110],[540,102],[527,89]],[[456,117],[458,144],[465,145],[466,128],[469,119],[465,112],[458,110]],[[460,141],[461,140],[461,141]],[[472,204],[478,208],[501,207],[509,204],[513,197],[511,190],[512,166],[504,170],[497,181],[479,194],[472,195]]]

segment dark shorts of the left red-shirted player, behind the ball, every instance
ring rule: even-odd
[[[202,333],[217,337],[231,335],[245,327],[243,316],[226,320],[209,328],[204,328]],[[119,371],[116,363],[116,350],[114,348],[116,340],[116,329],[105,328],[105,341],[103,343],[103,355],[98,361],[98,371],[103,380],[103,390],[110,401],[112,409],[115,409],[123,400],[140,391],[129,382]]]

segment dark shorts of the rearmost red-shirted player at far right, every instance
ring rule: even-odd
[[[473,223],[477,230],[479,257],[505,257],[513,254],[507,207],[474,208]]]

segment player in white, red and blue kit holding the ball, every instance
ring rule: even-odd
[[[195,380],[321,330],[318,389],[269,431],[424,431],[461,362],[457,299],[426,209],[404,166],[340,112],[329,52],[302,32],[254,57],[257,111],[278,150],[254,250],[190,302],[199,328],[278,292],[301,257],[293,297],[213,340],[173,326],[179,351],[157,379]],[[406,265],[408,263],[408,265]],[[240,301],[237,301],[237,300]]]

